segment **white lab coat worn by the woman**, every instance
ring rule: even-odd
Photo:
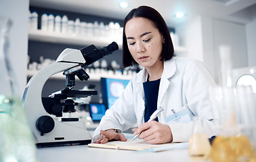
[[[122,132],[144,123],[144,88],[148,72],[144,68],[133,76],[123,94],[106,111],[98,128],[93,134],[93,140],[100,136],[100,130],[116,129]],[[164,111],[158,115],[161,124],[167,124],[173,134],[173,142],[188,141],[192,133],[192,121],[188,123],[168,124],[165,117],[173,115],[182,109],[188,109],[190,116],[198,115],[207,122],[206,133],[209,137],[213,131],[213,114],[209,103],[209,87],[216,86],[207,67],[200,61],[184,57],[173,57],[164,62],[164,70],[158,91],[157,108],[163,107]],[[188,104],[188,107],[182,108]]]

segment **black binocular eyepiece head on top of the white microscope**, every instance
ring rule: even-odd
[[[112,42],[110,45],[103,47],[102,49],[97,49],[94,45],[90,45],[83,49],[80,49],[83,57],[85,58],[85,65],[90,65],[91,63],[98,61],[102,57],[106,55],[112,54],[113,51],[119,49],[119,45],[117,43]]]

